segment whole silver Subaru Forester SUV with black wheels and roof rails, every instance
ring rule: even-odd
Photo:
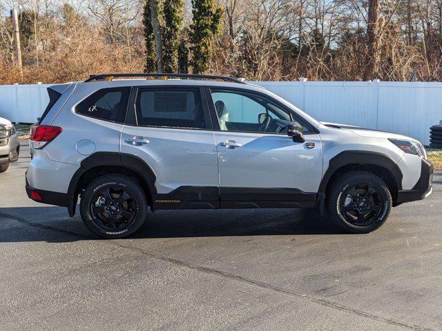
[[[155,210],[219,208],[318,208],[366,233],[432,191],[419,141],[320,123],[229,77],[102,74],[48,94],[28,196],[71,217],[80,197],[101,237],[133,234]]]

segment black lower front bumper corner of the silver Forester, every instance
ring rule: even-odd
[[[399,190],[396,204],[425,199],[432,192],[433,163],[421,160],[421,177],[412,190]]]

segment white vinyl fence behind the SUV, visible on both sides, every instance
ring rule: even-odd
[[[405,134],[428,144],[430,126],[442,119],[442,83],[254,82],[319,121]],[[0,85],[0,117],[33,123],[48,103],[50,85]]]

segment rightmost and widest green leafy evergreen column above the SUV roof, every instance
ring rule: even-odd
[[[194,74],[207,70],[211,55],[212,38],[220,32],[222,10],[214,0],[192,0],[191,67]]]

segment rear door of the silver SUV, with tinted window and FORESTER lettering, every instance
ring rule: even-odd
[[[121,152],[152,168],[155,208],[219,207],[218,159],[202,88],[133,88]]]

